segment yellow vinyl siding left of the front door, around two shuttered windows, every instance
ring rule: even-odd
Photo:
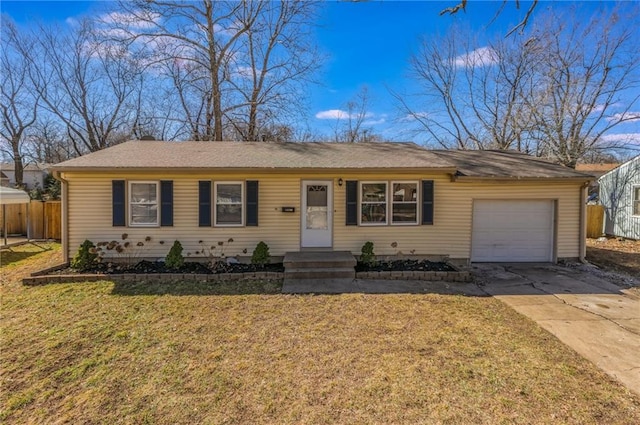
[[[184,247],[184,255],[203,246],[217,246],[225,242],[225,255],[251,255],[261,240],[269,244],[272,255],[282,255],[299,247],[299,186],[300,179],[292,176],[270,177],[244,175],[233,178],[200,175],[174,176],[173,180],[173,226],[172,227],[112,227],[111,182],[112,180],[168,180],[166,175],[66,175],[69,181],[69,255],[75,255],[80,244],[89,239],[100,241],[121,241],[126,233],[127,240],[134,245],[142,241],[145,246],[129,249],[137,257],[163,258],[174,240]],[[199,227],[198,226],[198,181],[258,180],[259,183],[259,226],[258,227]],[[295,213],[282,213],[282,206],[294,206]],[[128,205],[127,205],[128,207]],[[215,208],[212,205],[212,208]],[[244,213],[244,212],[243,212]],[[150,236],[150,242],[144,239]],[[229,238],[233,242],[227,244]],[[160,244],[164,241],[164,244]],[[227,247],[228,245],[228,247]],[[247,254],[242,251],[246,249]],[[219,251],[218,251],[219,252]],[[113,254],[113,252],[110,252]]]

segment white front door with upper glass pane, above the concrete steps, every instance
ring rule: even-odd
[[[302,182],[302,248],[331,248],[333,181]]]

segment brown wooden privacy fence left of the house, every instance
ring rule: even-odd
[[[7,235],[27,234],[27,204],[5,205]],[[62,205],[60,201],[31,201],[29,204],[29,236],[31,239],[62,238]],[[0,209],[0,225],[4,221]],[[4,235],[5,229],[2,229]]]

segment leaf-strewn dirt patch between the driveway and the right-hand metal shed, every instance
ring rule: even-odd
[[[587,260],[605,269],[640,277],[640,241],[587,239]]]

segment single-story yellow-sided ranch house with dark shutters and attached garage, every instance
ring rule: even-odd
[[[85,239],[123,234],[135,248],[129,255],[148,258],[163,258],[174,240],[191,258],[218,242],[226,255],[246,257],[260,241],[273,256],[359,255],[371,241],[377,255],[463,263],[585,252],[590,176],[515,152],[133,141],[51,169],[62,181],[67,259]]]

